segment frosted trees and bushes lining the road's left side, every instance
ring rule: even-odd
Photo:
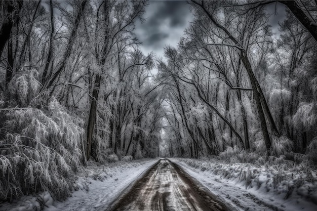
[[[0,201],[63,199],[89,159],[158,155],[162,94],[133,33],[145,6],[0,2]]]

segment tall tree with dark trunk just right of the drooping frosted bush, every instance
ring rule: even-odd
[[[100,4],[97,11],[97,24],[102,24],[104,33],[102,34],[102,47],[95,46],[95,58],[97,60],[99,71],[95,76],[92,102],[90,106],[88,129],[87,129],[87,159],[91,157],[91,146],[97,116],[97,101],[99,97],[102,75],[107,74],[105,68],[106,61],[109,61],[109,53],[114,50],[116,43],[120,42],[124,36],[131,35],[134,28],[134,21],[140,17],[145,7],[145,1],[133,2],[132,10],[127,2],[104,1]],[[99,20],[99,10],[103,10],[103,23]],[[114,15],[115,17],[111,17]],[[96,34],[97,35],[97,34]],[[98,35],[97,35],[98,36]],[[97,37],[96,40],[99,38]],[[95,45],[98,45],[95,43]],[[100,50],[101,49],[101,50]]]

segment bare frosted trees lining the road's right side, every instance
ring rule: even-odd
[[[165,154],[306,154],[317,163],[316,3],[189,4],[194,21],[159,64],[169,90]],[[272,4],[287,9],[277,40]]]

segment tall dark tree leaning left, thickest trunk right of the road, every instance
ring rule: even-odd
[[[230,46],[239,51],[239,55],[241,58],[241,62],[244,65],[244,68],[247,72],[247,75],[250,80],[250,85],[252,87],[253,98],[255,101],[255,105],[257,108],[257,113],[260,121],[260,126],[262,130],[263,140],[265,142],[265,146],[267,149],[267,153],[270,153],[271,148],[271,138],[268,132],[268,126],[266,123],[266,117],[271,124],[271,130],[275,132],[275,123],[270,115],[269,108],[267,106],[267,102],[263,92],[261,90],[260,84],[257,78],[254,75],[253,67],[251,64],[250,57],[250,49],[253,42],[257,43],[259,39],[263,39],[263,41],[267,41],[265,38],[266,29],[262,27],[263,21],[265,19],[264,16],[261,15],[263,13],[263,8],[258,8],[257,11],[252,11],[251,13],[243,13],[243,11],[239,14],[237,12],[237,16],[230,16],[229,14],[235,13],[233,11],[226,10],[222,5],[214,4],[213,6],[210,4],[205,4],[204,1],[192,1],[193,7],[198,11],[197,13],[204,14],[206,20],[210,21],[210,24],[213,24],[217,29],[220,30],[220,39],[226,39],[225,37],[229,37],[229,42],[222,42],[220,45]],[[218,12],[216,12],[218,11]],[[224,15],[224,21],[221,20],[221,13]],[[204,17],[203,15],[203,17]],[[245,16],[247,15],[247,16]],[[234,23],[242,23],[242,32],[240,34],[235,34],[236,30],[232,30],[230,24]],[[252,24],[251,24],[252,23]],[[265,22],[264,22],[265,23]],[[229,24],[229,25],[226,25]],[[245,25],[244,25],[245,24]],[[237,24],[239,26],[239,24]],[[260,30],[261,29],[261,30]],[[240,31],[240,30],[237,30]],[[224,36],[224,37],[222,37]],[[247,36],[247,39],[240,40],[240,36]],[[212,44],[213,45],[213,44]],[[214,45],[219,45],[216,41]]]

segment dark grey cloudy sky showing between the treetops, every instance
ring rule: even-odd
[[[285,7],[281,4],[267,6],[273,33],[279,34],[278,22],[285,18]],[[149,1],[143,15],[145,22],[136,22],[135,33],[142,41],[141,50],[144,54],[154,52],[164,57],[166,45],[177,46],[183,31],[189,26],[193,17],[190,7],[185,1]]]

